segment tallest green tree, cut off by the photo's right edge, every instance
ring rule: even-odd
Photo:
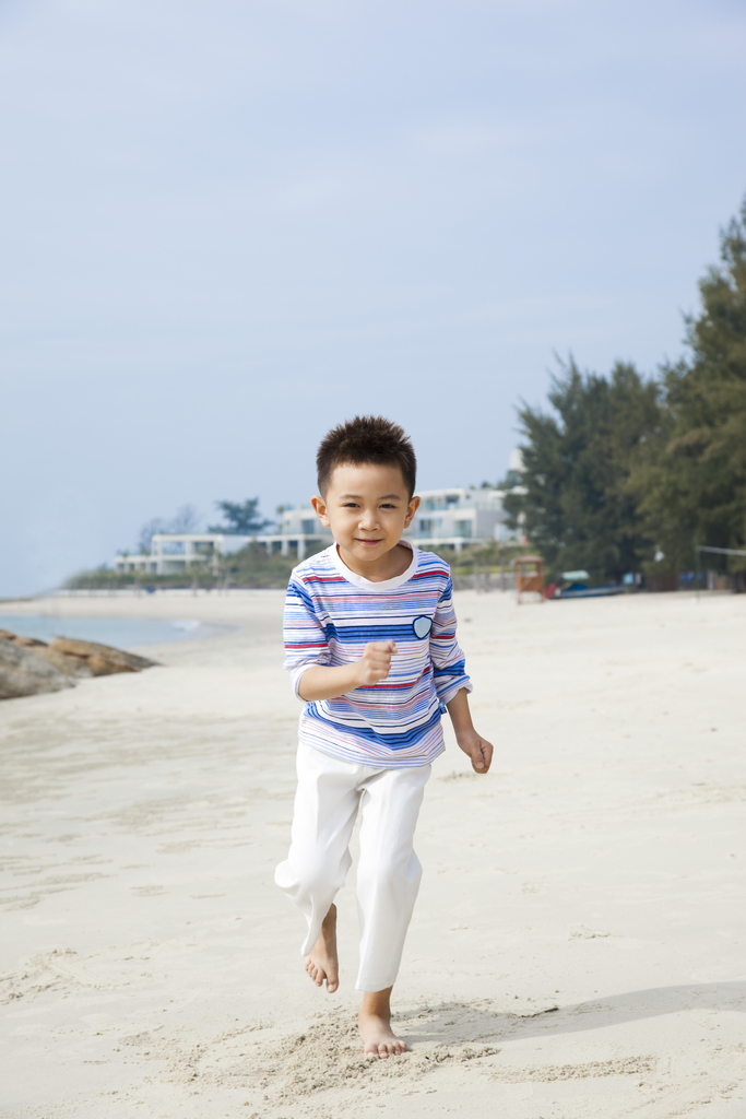
[[[693,567],[696,539],[746,542],[746,198],[720,258],[699,283],[699,317],[686,319],[689,357],[663,367],[669,421],[633,479],[672,570]]]

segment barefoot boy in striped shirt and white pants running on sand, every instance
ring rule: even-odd
[[[291,848],[275,882],[308,921],[305,970],[337,990],[333,900],[361,807],[359,1026],[365,1055],[386,1059],[406,1050],[390,995],[422,875],[417,814],[445,749],[441,714],[476,773],[488,772],[492,746],[469,714],[447,564],[402,539],[419,505],[408,438],[357,416],[324,438],[317,468],[312,504],[334,544],[299,564],[287,587],[285,667],[305,706]]]

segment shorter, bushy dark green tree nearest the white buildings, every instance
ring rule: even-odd
[[[630,476],[663,422],[659,397],[658,384],[632,365],[617,363],[605,378],[580,374],[570,360],[553,378],[554,415],[520,410],[523,463],[503,483],[504,508],[513,528],[522,515],[554,575],[586,568],[620,579],[650,553]]]

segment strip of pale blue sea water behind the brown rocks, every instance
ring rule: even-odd
[[[237,626],[204,626],[195,619],[178,621],[150,618],[53,618],[49,614],[0,614],[0,629],[51,641],[55,637],[75,637],[82,641],[100,641],[116,649],[135,649],[141,645],[164,645],[170,641],[193,641],[229,633]]]

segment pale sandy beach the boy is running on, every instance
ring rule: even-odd
[[[3,604],[8,612],[10,605]],[[280,592],[29,602],[232,622],[0,705],[7,1119],[746,1116],[746,596],[457,595],[497,746],[434,767],[400,980],[360,1059],[272,884],[298,705]]]

